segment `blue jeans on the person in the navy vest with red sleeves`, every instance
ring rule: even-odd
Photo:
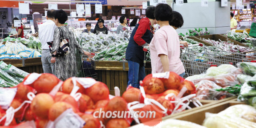
[[[136,63],[134,61],[129,61],[128,60],[128,66],[129,66],[129,71],[128,71],[128,85],[131,84],[131,86],[135,88],[140,87],[140,81],[143,81],[145,78],[145,67],[140,66],[139,63]]]

